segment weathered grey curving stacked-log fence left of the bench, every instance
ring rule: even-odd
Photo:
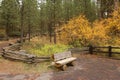
[[[41,56],[37,57],[36,55],[29,54],[25,50],[20,49],[20,43],[10,43],[9,46],[3,48],[2,56],[11,59],[11,60],[18,60],[27,63],[38,63],[43,61],[50,61],[50,57],[48,56]]]

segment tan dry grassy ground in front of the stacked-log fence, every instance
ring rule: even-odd
[[[30,74],[30,73],[43,73],[51,71],[49,67],[50,62],[43,62],[38,64],[27,64],[23,62],[10,61],[0,58],[0,73],[11,73],[11,74]]]

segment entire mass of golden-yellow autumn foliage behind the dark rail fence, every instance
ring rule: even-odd
[[[120,45],[120,9],[112,17],[90,23],[85,16],[71,19],[60,28],[62,42],[74,46]]]

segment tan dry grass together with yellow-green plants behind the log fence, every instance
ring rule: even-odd
[[[31,42],[25,42],[22,48],[28,53],[35,54],[37,56],[51,56],[52,54],[66,51],[70,47],[72,46],[50,43],[46,37],[35,37]]]

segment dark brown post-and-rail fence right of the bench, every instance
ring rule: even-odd
[[[72,53],[81,52],[81,53],[106,53],[108,57],[112,57],[113,54],[120,54],[120,47],[113,47],[113,46],[89,46],[89,47],[83,47],[81,49],[74,48],[71,49]]]

